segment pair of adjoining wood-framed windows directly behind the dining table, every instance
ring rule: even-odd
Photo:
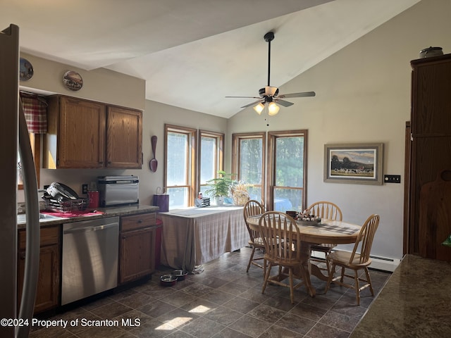
[[[233,134],[232,168],[238,180],[252,184],[251,199],[268,210],[304,210],[306,201],[307,130]]]

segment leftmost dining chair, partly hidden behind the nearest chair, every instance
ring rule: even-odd
[[[249,268],[252,265],[258,266],[264,270],[266,273],[266,264],[259,264],[258,261],[264,261],[263,257],[254,258],[254,253],[256,249],[265,249],[265,245],[263,243],[263,239],[261,239],[259,231],[255,230],[255,228],[249,227],[249,223],[247,223],[247,218],[251,215],[261,215],[265,212],[265,208],[263,204],[259,201],[255,201],[251,199],[247,201],[245,207],[243,208],[243,216],[245,218],[245,223],[247,227],[247,231],[249,232],[249,246],[252,248],[251,256],[249,257],[249,263],[247,263],[246,272],[249,271]]]

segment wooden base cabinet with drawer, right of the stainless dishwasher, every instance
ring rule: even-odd
[[[155,213],[121,217],[118,283],[123,284],[155,271]]]

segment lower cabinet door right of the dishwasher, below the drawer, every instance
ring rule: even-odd
[[[155,227],[121,233],[119,283],[137,280],[155,270]]]

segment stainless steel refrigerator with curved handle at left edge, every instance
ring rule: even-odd
[[[22,299],[18,300],[17,168],[23,165],[27,248]],[[19,99],[19,28],[0,32],[0,337],[28,337],[39,269],[39,206],[30,138]]]

